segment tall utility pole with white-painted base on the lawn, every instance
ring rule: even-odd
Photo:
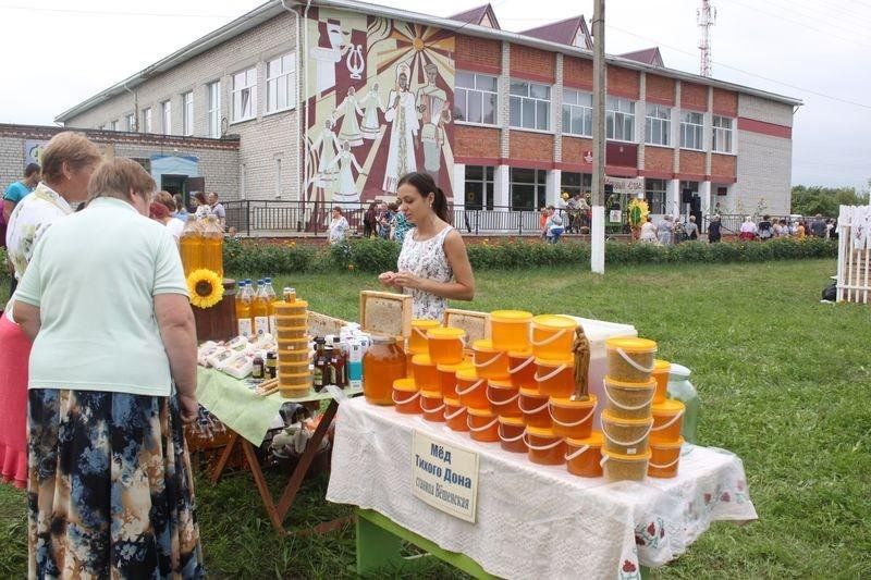
[[[590,271],[605,273],[605,0],[592,12],[592,227]]]

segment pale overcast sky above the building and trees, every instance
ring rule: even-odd
[[[0,122],[54,116],[261,0],[0,0]],[[381,0],[449,16],[477,0]],[[871,177],[871,0],[714,0],[713,76],[797,97],[793,183],[864,187]],[[592,0],[495,0],[503,29],[584,14]],[[609,0],[606,51],[658,45],[665,65],[699,72],[699,0]],[[568,9],[566,7],[574,7]],[[851,101],[851,102],[849,102]]]

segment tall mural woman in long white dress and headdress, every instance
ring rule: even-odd
[[[410,67],[404,62],[400,63],[396,66],[397,88],[391,89],[388,96],[388,109],[384,111],[384,119],[390,123],[390,147],[382,189],[391,194],[396,193],[401,176],[417,171],[415,137],[419,125],[415,111],[415,96],[408,90],[409,77]]]

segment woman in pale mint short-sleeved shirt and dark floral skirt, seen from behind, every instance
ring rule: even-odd
[[[182,430],[198,411],[194,314],[172,236],[148,219],[154,188],[133,160],[100,165],[13,297],[34,341],[32,578],[204,575]]]

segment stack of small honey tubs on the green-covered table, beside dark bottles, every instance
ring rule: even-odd
[[[275,301],[274,307],[279,391],[289,398],[305,396],[311,390],[312,379],[307,334],[308,303],[291,296]]]

